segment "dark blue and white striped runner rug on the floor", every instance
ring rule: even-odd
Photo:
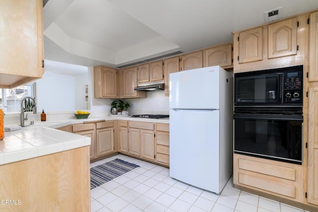
[[[137,167],[140,166],[118,158],[107,163],[94,166],[90,168],[90,189],[96,188]]]

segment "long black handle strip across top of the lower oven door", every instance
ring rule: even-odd
[[[270,119],[270,120],[289,120],[289,121],[304,121],[302,115],[282,115],[282,114],[248,114],[235,113],[233,119]]]

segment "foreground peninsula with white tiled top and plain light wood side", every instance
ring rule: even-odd
[[[48,127],[5,132],[0,211],[90,211],[90,138]]]

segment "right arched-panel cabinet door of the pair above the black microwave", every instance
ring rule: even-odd
[[[296,55],[297,18],[268,25],[268,59]]]

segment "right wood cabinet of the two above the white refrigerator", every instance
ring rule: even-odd
[[[223,44],[203,51],[203,66],[221,66],[223,69],[233,67],[233,45]]]

